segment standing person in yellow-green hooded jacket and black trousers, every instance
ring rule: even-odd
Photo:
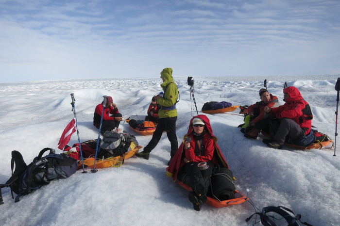
[[[164,91],[164,96],[155,96],[157,104],[161,106],[158,112],[159,121],[156,130],[153,132],[153,138],[146,145],[142,152],[136,153],[137,157],[142,157],[146,160],[150,157],[150,152],[156,147],[162,137],[163,131],[167,131],[167,136],[171,144],[170,161],[178,149],[176,135],[176,120],[177,109],[176,102],[178,97],[178,88],[172,78],[172,68],[164,68],[161,72],[163,83],[161,87]],[[168,165],[170,163],[168,162]]]

